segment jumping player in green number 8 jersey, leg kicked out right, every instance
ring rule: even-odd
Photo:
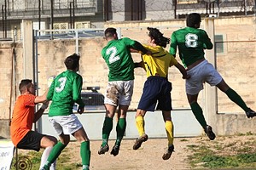
[[[209,139],[215,139],[212,127],[207,125],[203,116],[201,106],[197,103],[199,92],[203,89],[203,82],[216,86],[222,92],[239,105],[246,112],[248,118],[256,116],[255,111],[247,107],[240,95],[236,93],[229,85],[224,82],[223,77],[212,64],[208,63],[204,56],[204,49],[212,49],[213,45],[207,32],[199,29],[201,25],[201,15],[197,13],[189,14],[187,17],[187,27],[179,29],[172,33],[172,42],[170,54],[175,55],[177,48],[179,57],[183,61],[183,65],[187,67],[187,73],[190,78],[186,80],[186,93],[189,105],[193,111],[195,118],[204,128]]]

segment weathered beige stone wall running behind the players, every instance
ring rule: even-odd
[[[224,53],[217,54],[217,68],[229,83],[230,87],[246,101],[252,109],[256,110],[256,24],[255,16],[219,18],[215,22],[215,34],[224,35]],[[163,22],[113,22],[106,23],[105,27],[119,27],[122,37],[131,37],[139,42],[147,42],[147,26],[158,27],[164,36],[171,37],[172,31],[185,26],[184,20],[168,20]],[[204,28],[204,22],[202,22]],[[79,54],[81,54],[80,74],[84,77],[84,87],[100,86],[104,94],[108,82],[108,67],[101,56],[102,47],[106,45],[103,37],[84,38],[79,40]],[[0,42],[0,66],[2,68],[0,81],[0,119],[9,122],[9,115],[19,95],[17,87],[23,77],[24,61],[23,44],[16,42],[15,68],[12,76],[13,42]],[[169,46],[166,48],[169,49]],[[47,78],[65,70],[63,61],[69,54],[75,52],[75,40],[40,40],[38,42],[38,86],[39,94],[47,88]],[[177,57],[178,58],[178,57]],[[134,54],[134,60],[139,61],[140,56]],[[143,69],[135,71],[135,89],[131,109],[137,108],[143,90],[146,75]],[[172,82],[172,105],[174,109],[189,109],[185,95],[184,81],[175,67],[170,68],[169,80]],[[14,82],[12,83],[11,80]],[[14,89],[11,91],[11,87]],[[12,94],[11,94],[12,93]],[[205,107],[205,91],[201,92],[200,103]],[[214,99],[212,99],[214,100]],[[224,94],[218,91],[218,134],[246,133],[255,129],[256,119],[248,120],[241,108],[232,104]],[[232,120],[232,122],[230,122]],[[242,126],[241,126],[242,125]],[[0,136],[9,138],[9,132],[3,133],[1,129],[6,123],[0,123]],[[4,131],[5,132],[5,131]]]

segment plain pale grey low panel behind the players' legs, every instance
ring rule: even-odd
[[[138,136],[135,124],[136,111],[127,113],[127,126],[125,130],[125,139],[135,139]],[[102,139],[102,126],[105,114],[102,112],[87,112],[85,114],[76,114],[79,121],[90,139]],[[161,111],[148,112],[145,118],[145,131],[150,138],[166,138],[165,122],[161,116]],[[192,111],[172,111],[172,122],[174,124],[173,132],[175,137],[195,137],[203,133],[200,124],[195,120]],[[113,130],[110,133],[110,139],[116,139],[116,123],[113,119]],[[157,126],[155,126],[157,125]],[[41,133],[46,133],[58,138],[54,128],[48,121],[48,115],[42,116]],[[72,139],[75,139],[72,137]]]

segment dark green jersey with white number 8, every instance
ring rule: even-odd
[[[172,33],[170,54],[179,52],[184,66],[204,58],[204,49],[212,49],[213,45],[207,32],[193,27],[185,27]]]

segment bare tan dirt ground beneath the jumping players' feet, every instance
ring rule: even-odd
[[[105,155],[98,155],[97,150],[102,144],[101,141],[90,141],[90,169],[96,170],[177,170],[177,169],[190,169],[187,160],[189,150],[186,145],[197,144],[197,140],[201,138],[177,138],[174,141],[175,152],[167,161],[162,159],[164,152],[167,149],[167,139],[148,139],[143,143],[142,147],[138,150],[132,150],[134,139],[124,139],[118,156],[110,155],[114,141],[109,141],[110,150]],[[79,144],[72,142],[68,145],[68,150],[71,151],[73,162],[80,162],[79,158]]]

